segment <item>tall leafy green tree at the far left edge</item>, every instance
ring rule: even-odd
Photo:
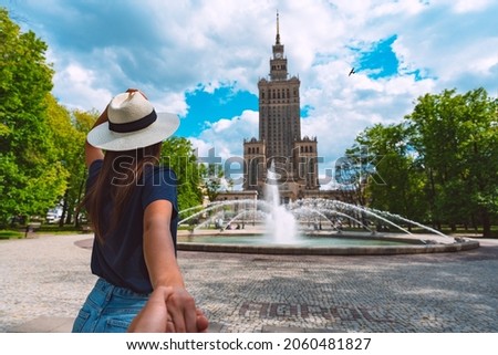
[[[53,71],[46,44],[0,8],[0,223],[44,213],[65,189],[46,115]]]

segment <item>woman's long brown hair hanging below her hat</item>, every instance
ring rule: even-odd
[[[120,222],[124,207],[132,196],[133,189],[143,177],[147,165],[159,161],[162,143],[133,150],[105,153],[104,163],[96,181],[87,190],[82,205],[85,206],[93,226],[95,237],[104,242],[105,236]],[[102,208],[108,200],[113,201],[111,223],[103,228]]]

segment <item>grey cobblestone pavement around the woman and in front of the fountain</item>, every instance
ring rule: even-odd
[[[0,332],[74,317],[95,282],[91,236],[0,241]],[[217,332],[498,332],[498,240],[457,253],[178,252]]]

